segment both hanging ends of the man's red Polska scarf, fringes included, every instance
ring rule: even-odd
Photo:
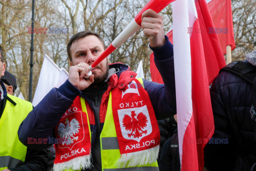
[[[117,167],[152,164],[158,156],[160,133],[148,93],[137,79],[123,89],[115,87],[111,92],[121,152]],[[55,144],[54,170],[91,168],[88,121],[77,96],[55,127],[58,143]]]

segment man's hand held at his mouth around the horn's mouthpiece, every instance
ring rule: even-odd
[[[84,76],[89,71],[89,64],[81,62],[76,66],[69,68],[69,82],[73,84],[77,89],[83,90],[89,87],[94,82],[94,75],[91,75],[88,79],[85,79]]]

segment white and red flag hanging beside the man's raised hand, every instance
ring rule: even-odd
[[[181,171],[202,170],[214,133],[209,84],[226,65],[205,0],[173,3],[174,70]],[[188,33],[188,28],[193,28]]]

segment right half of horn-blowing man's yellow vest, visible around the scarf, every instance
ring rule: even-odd
[[[143,81],[141,78],[138,79],[140,83]],[[130,167],[130,168],[117,168],[117,160],[121,157],[119,151],[119,145],[117,141],[116,129],[112,111],[112,95],[109,92],[109,100],[107,106],[107,113],[105,123],[100,134],[100,148],[101,148],[101,163],[103,171],[130,171],[130,170],[147,170],[147,171],[158,171],[157,161],[153,164],[147,164],[144,166]]]

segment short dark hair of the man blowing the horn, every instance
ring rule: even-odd
[[[90,35],[93,35],[93,36],[96,36],[100,42],[102,43],[103,45],[103,48],[105,50],[105,43],[104,43],[104,40],[103,38],[98,35],[97,33],[95,33],[94,31],[80,31],[80,32],[77,32],[77,34],[73,35],[69,42],[68,42],[68,46],[67,46],[67,52],[68,52],[68,58],[69,60],[72,62],[72,56],[71,56],[71,52],[70,52],[70,48],[71,48],[71,45],[74,43],[74,42],[77,42],[79,39],[81,38],[84,38],[86,36],[90,36]]]

